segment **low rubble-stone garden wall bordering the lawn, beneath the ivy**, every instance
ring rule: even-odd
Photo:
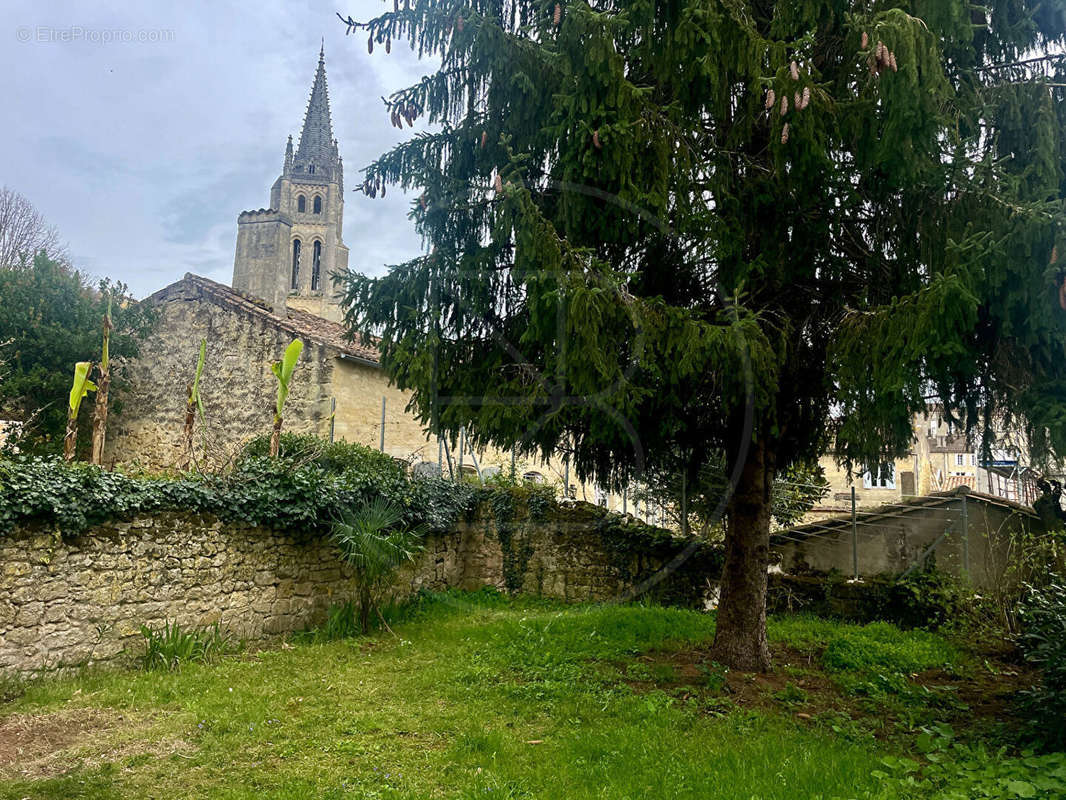
[[[679,554],[680,564],[662,573]],[[594,507],[501,514],[484,508],[431,537],[398,595],[492,586],[566,601],[628,597],[634,587],[700,606],[718,574],[710,548],[623,524]],[[160,513],[76,538],[16,528],[0,539],[0,672],[129,658],[141,625],[220,622],[249,641],[300,630],[346,599],[352,581],[320,534],[209,515]]]

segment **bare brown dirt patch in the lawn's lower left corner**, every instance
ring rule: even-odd
[[[154,737],[154,720],[108,708],[13,714],[0,720],[0,777],[51,778],[133,755],[163,756],[195,747]]]

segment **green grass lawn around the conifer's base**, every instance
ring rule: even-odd
[[[782,618],[752,677],[707,660],[706,614],[486,592],[393,628],[31,684],[0,705],[0,798],[939,797],[886,775],[949,740],[934,722],[1003,738],[1017,676],[930,634]]]

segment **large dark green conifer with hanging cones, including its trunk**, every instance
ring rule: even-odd
[[[1066,445],[1064,27],[1064,0],[399,0],[350,28],[439,57],[386,109],[437,128],[364,188],[415,190],[427,255],[349,276],[348,323],[427,426],[601,482],[721,463],[716,657],[766,669],[775,473],[902,452],[930,396]]]

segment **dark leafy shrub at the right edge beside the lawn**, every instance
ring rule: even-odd
[[[1018,645],[1040,670],[1039,685],[1024,698],[1034,734],[1048,748],[1066,749],[1066,579],[1030,588],[1018,615]]]

